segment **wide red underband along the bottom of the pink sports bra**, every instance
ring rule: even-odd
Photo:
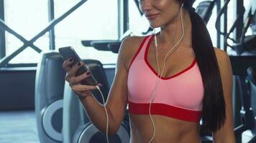
[[[129,112],[132,114],[149,114],[150,104],[129,102]],[[151,114],[163,115],[188,122],[199,122],[201,111],[173,107],[168,104],[152,103]]]

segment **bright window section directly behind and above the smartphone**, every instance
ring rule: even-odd
[[[55,1],[55,16],[62,15],[77,2],[78,0]],[[86,1],[86,4],[55,26],[56,49],[73,46],[82,59],[98,59],[103,64],[116,63],[117,54],[85,47],[81,40],[118,39],[117,18],[116,0]]]

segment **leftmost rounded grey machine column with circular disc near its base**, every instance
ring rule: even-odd
[[[35,114],[40,142],[63,141],[63,90],[65,70],[57,51],[41,54],[35,79]]]

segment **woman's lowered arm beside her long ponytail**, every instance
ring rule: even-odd
[[[213,133],[213,139],[214,143],[235,143],[232,114],[232,66],[229,61],[229,56],[225,51],[216,48],[214,49],[221,74],[221,81],[226,104],[226,120],[224,126],[221,127],[219,131]]]

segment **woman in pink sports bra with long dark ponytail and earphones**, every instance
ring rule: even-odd
[[[106,110],[109,135],[119,129],[129,103],[131,142],[200,142],[198,122],[213,132],[214,142],[233,143],[232,69],[225,51],[211,44],[204,21],[188,0],[140,0],[158,34],[132,36],[122,42]],[[79,84],[81,64],[70,69],[70,83],[93,124],[106,131],[104,106]],[[159,77],[159,78],[157,78]],[[116,108],[118,107],[118,108]]]

